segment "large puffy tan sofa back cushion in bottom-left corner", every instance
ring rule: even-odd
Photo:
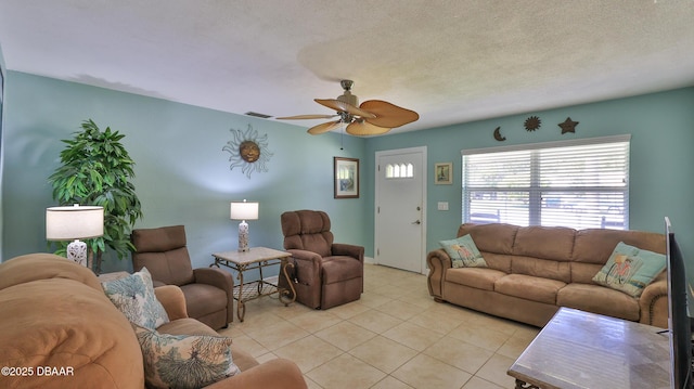
[[[65,261],[77,272],[85,269]],[[46,278],[0,290],[0,365],[35,368],[33,377],[0,376],[0,388],[142,388],[138,340],[100,288]],[[39,376],[37,366],[66,368],[66,375]]]

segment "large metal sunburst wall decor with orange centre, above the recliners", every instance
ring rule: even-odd
[[[250,179],[254,171],[267,172],[266,164],[272,157],[268,150],[268,134],[259,137],[250,125],[246,131],[231,129],[232,140],[221,150],[230,154],[229,170],[241,167],[241,172]]]

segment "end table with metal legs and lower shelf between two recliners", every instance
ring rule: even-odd
[[[248,251],[215,252],[213,257],[215,257],[215,263],[210,264],[210,267],[224,265],[235,270],[237,273],[239,285],[234,286],[234,300],[237,301],[236,315],[240,321],[243,322],[246,315],[246,301],[275,293],[279,294],[280,301],[285,307],[296,300],[296,290],[287,273],[287,267],[294,267],[294,263],[288,261],[292,254],[267,247],[252,247]],[[262,277],[262,268],[275,264],[280,264],[279,277],[284,276],[286,278],[290,289],[280,287],[279,280],[275,284]],[[260,280],[244,283],[243,272],[255,269],[260,272]]]

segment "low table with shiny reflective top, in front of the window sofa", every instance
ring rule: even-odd
[[[509,369],[516,389],[670,388],[663,328],[561,308]]]

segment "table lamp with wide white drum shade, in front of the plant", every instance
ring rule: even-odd
[[[79,239],[104,234],[104,207],[79,206],[46,208],[46,238],[73,241],[67,245],[67,259],[87,265],[87,244]]]

